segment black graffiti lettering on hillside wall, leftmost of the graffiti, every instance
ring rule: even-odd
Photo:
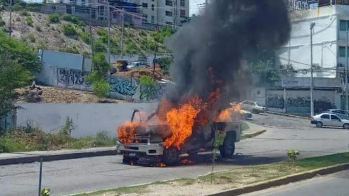
[[[79,69],[57,68],[57,80],[61,84],[68,86],[84,85],[90,86],[86,82],[85,77],[89,74],[88,71],[81,71]]]

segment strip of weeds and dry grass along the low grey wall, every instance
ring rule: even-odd
[[[115,139],[105,131],[97,133],[96,137],[72,138],[73,131],[74,123],[69,117],[57,133],[45,133],[28,121],[27,126],[2,132],[0,152],[83,149],[115,144]]]

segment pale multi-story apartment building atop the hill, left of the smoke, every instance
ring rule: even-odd
[[[122,1],[122,0],[121,0]],[[190,0],[123,0],[141,6],[144,23],[155,25],[181,25],[189,17]]]

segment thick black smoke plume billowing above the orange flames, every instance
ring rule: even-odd
[[[177,85],[166,89],[165,99],[176,105],[199,95],[208,101],[209,93],[220,89],[212,110],[226,108],[247,88],[242,77],[246,55],[257,45],[277,49],[288,42],[290,30],[285,0],[214,0],[166,42],[174,55],[170,76]]]

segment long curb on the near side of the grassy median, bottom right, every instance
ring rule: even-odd
[[[313,169],[311,171],[302,172],[302,173],[298,173],[298,174],[291,174],[291,175],[277,178],[274,180],[258,182],[258,183],[254,183],[254,184],[251,184],[251,185],[246,186],[246,187],[225,190],[221,193],[216,193],[216,194],[211,194],[211,195],[206,195],[206,196],[237,196],[237,195],[241,195],[241,194],[252,193],[254,191],[268,189],[271,187],[285,185],[285,184],[288,184],[291,182],[297,182],[297,181],[301,181],[301,180],[311,179],[317,175],[332,174],[332,173],[340,172],[340,171],[343,171],[346,169],[349,169],[349,163],[338,164],[338,165],[323,167],[323,168],[319,168],[319,169]]]

